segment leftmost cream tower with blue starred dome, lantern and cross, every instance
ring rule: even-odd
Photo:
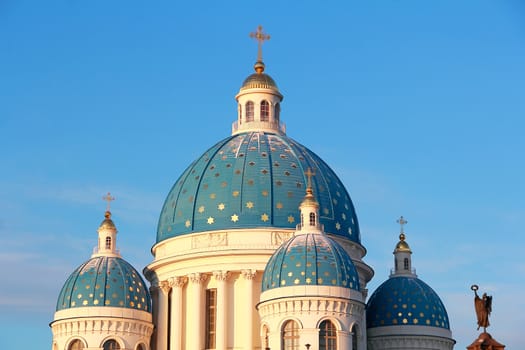
[[[116,248],[117,228],[108,207],[91,258],[64,283],[51,330],[53,350],[150,350],[151,298],[140,274]]]

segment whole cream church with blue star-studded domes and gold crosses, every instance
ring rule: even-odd
[[[262,58],[269,36],[251,36],[258,57],[231,135],[168,191],[147,281],[117,249],[108,194],[97,249],[58,296],[52,350],[453,349],[403,217],[390,277],[368,291],[374,271],[350,194],[286,135],[284,96]]]

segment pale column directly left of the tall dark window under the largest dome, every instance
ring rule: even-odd
[[[186,348],[200,350],[204,349],[204,298],[202,292],[207,276],[202,273],[192,273],[188,277],[191,282],[192,301],[191,309],[187,310],[187,314],[192,318],[188,317]]]

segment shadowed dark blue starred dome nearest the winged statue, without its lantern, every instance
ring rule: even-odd
[[[436,292],[420,279],[407,276],[393,276],[376,289],[366,306],[366,326],[430,326],[450,330],[447,310]]]

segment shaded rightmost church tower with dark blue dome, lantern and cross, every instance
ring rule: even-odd
[[[445,305],[417,278],[404,233],[407,221],[401,216],[397,222],[401,232],[394,249],[394,270],[366,306],[368,350],[451,350],[455,341]]]

